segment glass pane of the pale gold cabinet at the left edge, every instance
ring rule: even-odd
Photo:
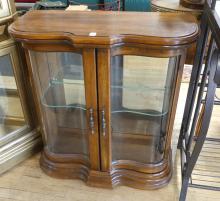
[[[9,54],[0,56],[0,138],[24,124],[11,57]]]

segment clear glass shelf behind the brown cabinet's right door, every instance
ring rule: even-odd
[[[171,89],[151,86],[137,87],[117,86],[111,87],[111,108],[114,113],[131,113],[143,116],[164,116],[168,108],[163,108],[163,100]]]

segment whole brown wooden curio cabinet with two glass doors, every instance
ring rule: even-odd
[[[168,183],[194,17],[31,11],[9,31],[29,63],[47,174],[100,187]]]

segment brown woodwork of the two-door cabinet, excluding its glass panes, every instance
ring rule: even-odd
[[[158,27],[161,31],[158,31]],[[88,185],[107,188],[127,185],[155,189],[169,182],[172,175],[170,142],[186,49],[195,42],[199,34],[194,17],[182,13],[31,11],[13,23],[9,31],[25,48],[28,62],[26,71],[30,75],[37,115],[45,138],[40,164],[47,174],[60,178],[79,178]],[[95,36],[90,36],[90,33]],[[50,150],[47,140],[49,129],[54,129],[51,138],[55,138],[55,133],[60,132],[63,132],[62,136],[65,138],[65,133],[72,132],[74,136],[71,139],[78,142],[83,136],[80,129],[68,127],[71,121],[65,122],[66,112],[61,110],[57,119],[58,113],[42,110],[40,97],[43,92],[36,72],[44,72],[41,73],[41,86],[45,88],[58,66],[52,62],[55,66],[51,72],[47,65],[41,65],[45,61],[44,56],[35,59],[31,56],[31,51],[82,54],[88,127],[85,132],[88,136],[89,157],[79,153],[54,153]],[[112,132],[111,57],[117,55],[179,58],[174,67],[176,73],[166,124],[165,151],[163,159],[156,163],[112,159],[114,142],[122,140],[131,145],[132,142],[138,145],[153,142],[150,135],[136,137],[132,133],[115,135]],[[64,89],[61,87],[60,91]],[[64,92],[61,94],[59,100],[62,102]],[[52,96],[49,98],[53,100]],[[90,109],[93,111],[92,118]],[[90,127],[91,119],[94,122],[94,132]],[[57,121],[65,123],[66,127],[55,128]],[[64,146],[62,143],[58,141],[56,146]]]

